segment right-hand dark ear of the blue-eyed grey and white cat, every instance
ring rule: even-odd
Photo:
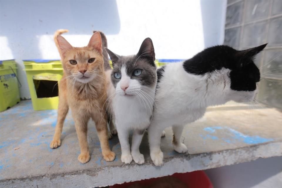
[[[137,57],[147,58],[149,60],[155,61],[155,50],[151,38],[145,38],[145,40],[142,42],[137,53]]]

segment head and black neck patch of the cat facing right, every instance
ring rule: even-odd
[[[266,45],[263,44],[243,51],[237,51],[224,45],[214,46],[184,61],[183,68],[187,73],[195,75],[227,70],[230,100],[250,101],[254,99],[256,84],[260,81],[259,68],[255,65],[254,58]]]

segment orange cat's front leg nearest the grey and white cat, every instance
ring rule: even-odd
[[[115,159],[115,153],[110,150],[108,140],[107,115],[101,118],[101,113],[98,113],[92,119],[96,125],[104,160],[113,161]]]

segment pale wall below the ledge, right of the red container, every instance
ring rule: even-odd
[[[216,188],[282,187],[282,157],[258,159],[205,172]]]

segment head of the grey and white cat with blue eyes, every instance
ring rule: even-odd
[[[150,38],[145,38],[136,55],[119,56],[106,48],[112,63],[112,83],[117,95],[142,95],[155,92],[157,73],[155,51]],[[151,92],[149,92],[151,93]]]

